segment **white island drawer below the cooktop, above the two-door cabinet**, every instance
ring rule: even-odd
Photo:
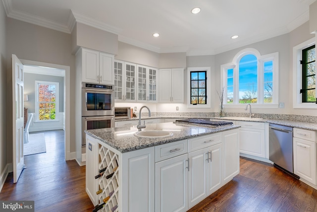
[[[189,139],[188,152],[205,148],[220,142],[221,142],[221,133]]]

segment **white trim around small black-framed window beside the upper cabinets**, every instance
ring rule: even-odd
[[[206,83],[207,83],[207,102],[205,105],[200,105],[200,104],[197,104],[197,105],[192,105],[190,103],[190,94],[191,94],[191,91],[190,91],[190,83],[191,83],[191,77],[190,77],[190,72],[191,71],[206,71],[207,73],[207,80],[206,80]],[[187,68],[187,108],[211,108],[211,84],[214,84],[214,83],[211,83],[211,80],[214,80],[214,79],[211,79],[211,68],[210,67],[188,67]]]

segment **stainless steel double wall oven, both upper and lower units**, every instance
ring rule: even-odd
[[[114,127],[113,85],[82,82],[82,145],[85,130]]]

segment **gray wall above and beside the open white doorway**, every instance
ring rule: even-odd
[[[1,13],[2,14],[2,13]],[[26,23],[12,18],[7,18],[6,28],[6,55],[8,87],[10,90],[11,55],[15,54],[19,59],[38,61],[43,63],[58,64],[70,67],[70,93],[75,93],[75,56],[72,55],[71,35],[34,24]],[[8,91],[12,92],[12,91]],[[7,97],[7,114],[12,113],[10,102],[12,95]],[[70,102],[75,102],[75,95],[70,95]],[[74,110],[70,110],[70,152],[75,151],[75,130],[74,130]],[[12,120],[8,119],[7,125],[12,125]],[[8,128],[7,135],[7,163],[12,162],[12,128]]]

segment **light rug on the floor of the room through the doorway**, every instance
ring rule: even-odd
[[[23,145],[24,155],[46,152],[44,133],[29,134],[29,142]]]

